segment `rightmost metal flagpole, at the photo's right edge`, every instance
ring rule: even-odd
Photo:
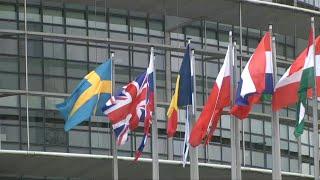
[[[311,28],[313,34],[313,59],[314,59],[314,87],[312,88],[313,95],[313,159],[314,159],[314,179],[319,180],[319,133],[318,133],[318,100],[317,100],[317,76],[316,76],[316,58],[315,58],[315,32],[314,32],[314,17],[311,17]]]

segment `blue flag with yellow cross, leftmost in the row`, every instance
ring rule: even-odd
[[[93,113],[101,114],[102,104],[112,92],[111,68],[112,62],[107,60],[87,74],[65,102],[57,104],[57,109],[66,120],[65,131],[88,120]]]

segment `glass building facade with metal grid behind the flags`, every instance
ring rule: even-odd
[[[136,5],[132,5],[131,9],[129,5],[125,5],[125,2],[121,8],[119,5],[121,3],[117,4],[112,0],[28,0],[27,29],[25,29],[24,2],[0,0],[1,150],[28,150],[27,129],[29,128],[30,151],[111,155],[112,132],[105,117],[92,117],[90,121],[80,124],[69,132],[64,132],[64,120],[55,105],[63,102],[83,76],[108,59],[111,52],[115,52],[116,88],[121,88],[146,69],[150,47],[153,45],[157,69],[159,158],[180,161],[184,118],[179,120],[175,137],[168,140],[166,112],[187,38],[191,38],[192,47],[195,48],[198,114],[222,66],[230,30],[234,32],[234,40],[237,44],[242,41],[241,52],[238,45],[238,60],[243,59],[245,64],[267,30],[268,23],[273,23],[278,77],[282,76],[307,44],[308,29],[306,27],[308,26],[302,27],[300,22],[291,22],[291,27],[284,27],[278,22],[285,20],[280,19],[273,22],[260,22],[265,24],[260,28],[250,26],[254,23],[252,20],[254,17],[249,15],[251,6],[263,8],[264,5],[244,2],[242,7],[240,6],[242,12],[239,14],[239,2],[230,1],[233,5],[229,8],[222,5],[220,7],[227,13],[213,12],[213,15],[207,18],[198,16],[198,14],[201,15],[201,9],[191,8],[189,10],[198,11],[194,13],[198,14],[192,14],[190,16],[193,18],[190,18],[185,17],[184,11],[187,6],[191,6],[190,4],[197,3],[195,1],[177,0],[172,9],[164,8],[161,10],[163,13],[160,14],[149,12],[147,7],[150,3],[147,1],[145,4],[139,2],[141,11],[136,10]],[[158,3],[158,7],[161,8],[166,1]],[[320,4],[318,0],[270,3],[274,6],[268,6],[268,8],[271,7],[277,11],[282,11],[275,7],[278,3],[301,7],[296,11],[293,10],[292,15],[298,17],[297,20],[305,22],[309,22],[309,19],[301,19],[300,10],[319,10]],[[163,7],[167,6],[163,5]],[[144,8],[145,11],[143,11]],[[220,18],[222,15],[226,15],[225,21]],[[307,12],[307,15],[302,16],[313,15],[316,16],[316,21],[320,20],[317,17],[319,14]],[[242,38],[240,38],[239,16],[242,20]],[[260,16],[257,14],[257,18]],[[234,23],[230,23],[232,21]],[[291,31],[293,33],[286,34],[284,32],[286,28],[294,29]],[[304,35],[301,33],[303,31]],[[316,32],[319,33],[319,27],[316,27]],[[311,101],[310,104],[312,104]],[[295,107],[280,111],[283,172],[302,174],[306,177],[313,175],[311,109],[310,106],[306,116],[305,131],[299,140],[293,134]],[[181,117],[184,117],[184,113],[185,111],[181,110]],[[270,114],[270,103],[264,102],[255,105],[250,117],[243,121],[241,137],[243,167],[272,169]],[[134,157],[142,136],[142,127],[136,132],[131,132],[128,142],[119,147],[118,155]],[[230,137],[230,118],[225,114],[209,145],[199,146],[199,162],[230,165]],[[151,158],[151,152],[149,140],[143,157]],[[7,174],[6,172],[2,174],[2,166],[4,164],[0,165],[0,177],[4,179],[9,177],[13,179],[73,178],[59,175],[54,177]],[[121,173],[122,170],[119,171]]]

